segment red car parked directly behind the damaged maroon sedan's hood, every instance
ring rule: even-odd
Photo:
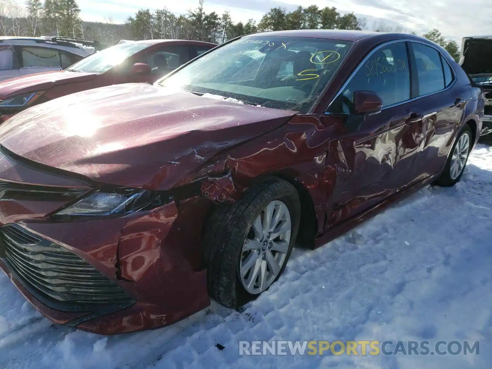
[[[78,40],[55,38],[57,42],[65,43]],[[90,41],[79,42],[90,44]],[[121,83],[154,83],[217,45],[188,40],[146,40],[130,41],[102,50],[100,43],[92,46],[100,51],[65,65],[63,70],[30,74],[0,83],[0,123],[30,106],[73,92]]]

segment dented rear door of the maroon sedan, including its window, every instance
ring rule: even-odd
[[[444,165],[471,92],[466,85],[455,83],[454,72],[438,49],[420,42],[409,44],[417,82],[413,112],[422,119],[425,134],[413,183]]]

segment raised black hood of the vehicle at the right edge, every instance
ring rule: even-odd
[[[465,37],[461,67],[470,76],[492,76],[492,37]]]

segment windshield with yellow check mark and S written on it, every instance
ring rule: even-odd
[[[157,84],[307,113],[351,44],[307,37],[243,37]]]

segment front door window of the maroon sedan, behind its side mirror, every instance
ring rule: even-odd
[[[410,99],[410,72],[404,42],[376,49],[359,67],[328,112],[353,112],[354,91],[371,91],[383,101],[383,107]]]

